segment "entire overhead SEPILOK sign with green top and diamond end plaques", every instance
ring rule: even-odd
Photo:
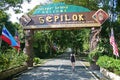
[[[52,3],[39,6],[33,15],[23,15],[20,23],[23,29],[100,27],[108,17],[102,9],[90,11],[82,6]]]

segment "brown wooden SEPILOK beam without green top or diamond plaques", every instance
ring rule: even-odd
[[[91,12],[76,12],[76,13],[62,13],[62,14],[49,14],[49,15],[33,15],[30,16],[31,21],[25,25],[24,29],[68,29],[68,28],[81,28],[81,27],[100,27],[92,15],[95,11]]]

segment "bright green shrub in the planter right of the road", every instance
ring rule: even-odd
[[[114,72],[118,75],[120,75],[120,60],[114,59],[113,57],[109,56],[101,56],[99,57],[97,64],[100,67],[103,67],[105,69],[108,69],[111,72]]]

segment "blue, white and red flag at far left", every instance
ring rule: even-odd
[[[7,30],[5,26],[2,29],[2,35],[0,36],[0,38],[9,45],[11,45],[12,47],[18,46],[18,43],[16,42],[14,37],[10,34],[10,32]]]

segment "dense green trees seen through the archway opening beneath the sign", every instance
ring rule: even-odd
[[[56,56],[71,47],[75,53],[89,50],[90,29],[36,31],[34,34],[34,51],[37,56]],[[84,34],[84,35],[83,35]],[[57,52],[53,46],[57,47]]]

